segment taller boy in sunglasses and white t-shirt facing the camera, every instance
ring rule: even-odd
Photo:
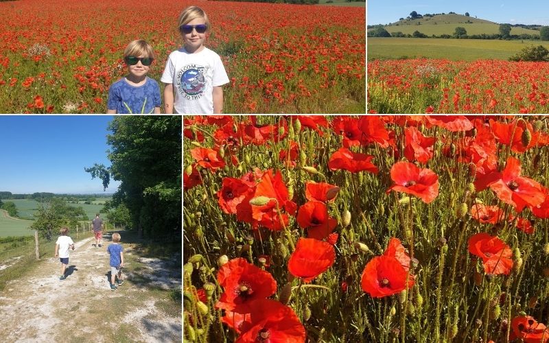
[[[183,47],[173,51],[166,62],[161,82],[165,113],[222,113],[223,90],[229,83],[218,54],[204,46],[211,25],[206,13],[190,6],[179,16],[178,28]]]

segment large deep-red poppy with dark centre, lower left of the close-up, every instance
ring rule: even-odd
[[[264,299],[277,292],[277,281],[271,274],[248,263],[246,259],[232,259],[222,265],[218,282],[225,291],[215,305],[221,309],[248,314],[254,300]]]

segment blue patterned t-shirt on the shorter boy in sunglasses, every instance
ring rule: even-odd
[[[126,78],[121,78],[108,89],[107,108],[116,113],[150,114],[160,106],[160,86],[149,77],[141,86],[132,86]]]

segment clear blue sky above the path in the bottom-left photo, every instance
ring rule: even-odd
[[[103,191],[84,167],[110,166],[106,150],[113,116],[0,115],[0,191],[12,193],[114,193]]]

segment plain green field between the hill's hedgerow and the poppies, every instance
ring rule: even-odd
[[[544,45],[536,40],[484,40],[440,38],[367,38],[368,60],[444,58],[447,60],[507,60],[524,47]]]

